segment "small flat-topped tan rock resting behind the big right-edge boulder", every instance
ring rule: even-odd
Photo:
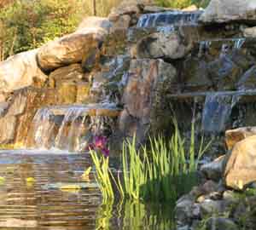
[[[246,139],[249,136],[256,135],[256,127],[241,127],[230,129],[225,132],[225,142],[228,149],[232,149],[237,142]]]

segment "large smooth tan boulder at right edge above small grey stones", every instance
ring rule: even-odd
[[[236,143],[224,170],[227,187],[242,190],[256,181],[256,135]]]

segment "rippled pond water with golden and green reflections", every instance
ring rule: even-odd
[[[0,229],[174,229],[171,204],[102,204],[89,166],[88,153],[0,151]]]

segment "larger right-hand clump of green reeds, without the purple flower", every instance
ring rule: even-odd
[[[211,141],[204,146],[204,139],[195,152],[195,124],[192,123],[189,154],[173,120],[174,133],[170,141],[162,136],[150,138],[149,147],[137,150],[136,138],[126,141],[123,147],[123,181],[119,190],[125,197],[144,200],[172,200],[187,193],[196,183],[198,162]]]

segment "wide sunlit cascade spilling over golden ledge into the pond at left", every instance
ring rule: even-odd
[[[91,135],[102,134],[105,125],[112,125],[118,112],[110,103],[39,109],[32,121],[26,146],[80,151]]]

